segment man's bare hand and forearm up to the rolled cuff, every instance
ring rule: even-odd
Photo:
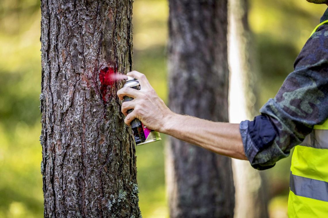
[[[247,160],[239,132],[239,124],[219,123],[172,112],[158,97],[145,75],[133,71],[128,73],[139,80],[141,89],[122,88],[117,92],[123,96],[133,97],[132,101],[123,102],[124,122],[130,125],[134,118],[155,131],[171,135],[213,151],[217,154],[236,159]],[[134,109],[127,114],[128,109]]]

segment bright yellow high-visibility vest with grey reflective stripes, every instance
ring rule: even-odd
[[[289,185],[288,217],[328,218],[328,120],[295,147]]]

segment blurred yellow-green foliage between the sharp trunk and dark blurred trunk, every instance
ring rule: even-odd
[[[135,0],[133,3],[133,69],[144,73],[157,94],[166,102],[166,52],[168,3]],[[164,177],[164,144],[138,146],[137,182],[142,216],[168,217]]]

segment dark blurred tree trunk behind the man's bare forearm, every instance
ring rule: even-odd
[[[227,1],[170,0],[169,106],[228,121]],[[170,217],[233,217],[231,159],[170,138]]]

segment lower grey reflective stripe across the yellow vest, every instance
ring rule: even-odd
[[[328,182],[295,176],[290,172],[290,191],[298,196],[328,202]]]

